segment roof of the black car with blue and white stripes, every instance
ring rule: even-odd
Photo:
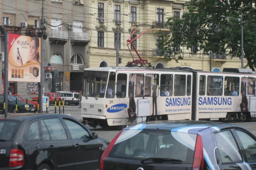
[[[140,123],[134,126],[124,128],[124,130],[136,129],[137,127],[139,129],[158,129],[158,130],[184,129],[184,130],[192,130],[192,131],[200,132],[204,129],[214,127],[214,126],[219,126],[219,125],[231,126],[231,124],[227,124],[227,123],[210,122],[210,121],[162,120],[162,121]]]

